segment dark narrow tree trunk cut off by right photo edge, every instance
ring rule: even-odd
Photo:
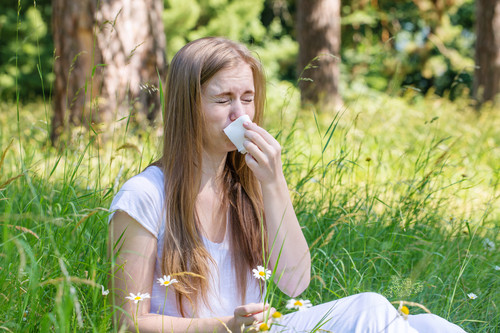
[[[474,97],[481,104],[500,93],[500,0],[476,0]]]

